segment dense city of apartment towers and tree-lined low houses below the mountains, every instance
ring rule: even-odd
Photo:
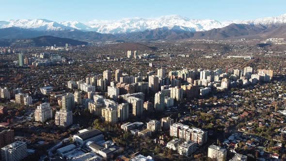
[[[1,158],[285,159],[284,54],[253,41],[1,48]]]

